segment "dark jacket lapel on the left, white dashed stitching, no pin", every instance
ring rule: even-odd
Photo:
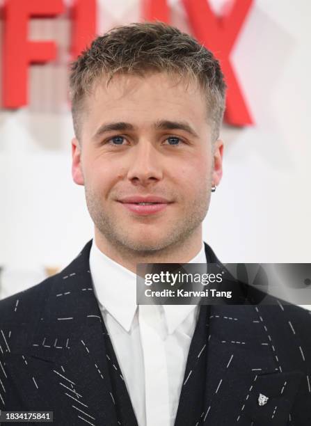
[[[51,281],[31,341],[18,347],[6,363],[9,368],[11,364],[16,386],[24,387],[23,404],[38,409],[39,401],[42,409],[54,410],[56,424],[66,419],[70,425],[83,420],[93,425],[136,425],[93,293],[90,246],[91,242]]]

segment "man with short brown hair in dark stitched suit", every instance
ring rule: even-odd
[[[310,425],[310,314],[136,306],[141,262],[218,262],[202,242],[221,180],[218,61],[165,24],[98,37],[72,66],[72,175],[95,237],[0,302],[0,408],[56,425]]]

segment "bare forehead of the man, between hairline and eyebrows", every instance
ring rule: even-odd
[[[186,120],[193,127],[207,126],[205,91],[196,81],[164,72],[143,76],[115,74],[97,79],[83,102],[83,133],[103,122],[118,120],[148,127],[159,120]]]

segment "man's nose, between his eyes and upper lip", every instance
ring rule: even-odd
[[[134,184],[150,184],[162,179],[160,153],[148,141],[140,141],[131,151],[127,178]]]

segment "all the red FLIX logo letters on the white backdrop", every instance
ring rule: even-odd
[[[194,36],[216,52],[228,84],[225,120],[231,125],[253,123],[245,96],[230,63],[230,52],[253,0],[235,0],[230,12],[214,14],[208,0],[181,0]],[[167,0],[142,0],[143,17],[170,22]],[[63,0],[6,0],[3,7],[3,107],[16,109],[28,104],[28,71],[31,63],[47,63],[56,58],[55,42],[28,39],[31,17],[56,17],[65,13]],[[72,58],[76,57],[96,34],[96,0],[75,0],[72,4]]]

